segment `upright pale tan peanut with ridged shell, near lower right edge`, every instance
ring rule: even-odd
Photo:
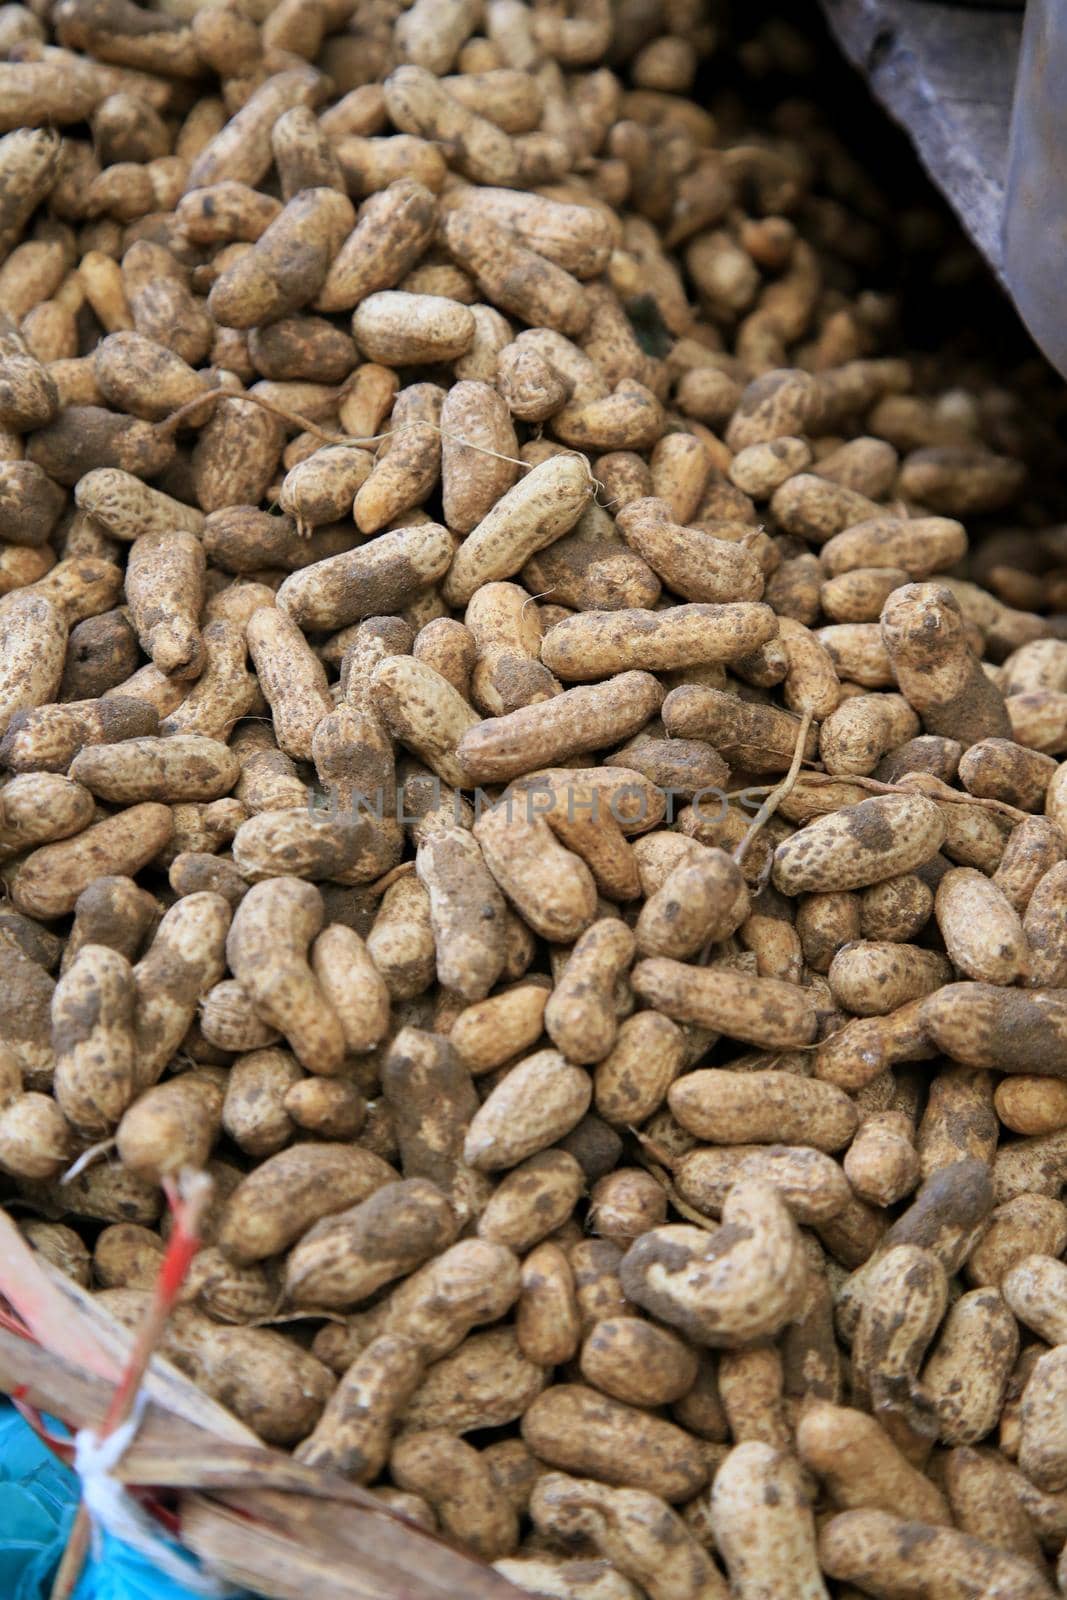
[[[1011,1315],[1009,1280],[1005,1294],[979,1288],[960,1296],[937,1334],[921,1382],[934,1403],[944,1445],[974,1445],[997,1424],[1008,1379],[1019,1354],[1019,1330]]]

